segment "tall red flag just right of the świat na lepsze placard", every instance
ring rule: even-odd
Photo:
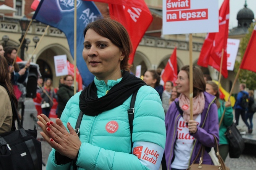
[[[222,49],[224,49],[221,74],[227,78],[227,39],[229,23],[229,0],[224,0],[219,10],[219,32],[209,33],[198,58],[198,65],[212,66],[220,71]]]

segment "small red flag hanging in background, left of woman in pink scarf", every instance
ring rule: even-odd
[[[172,81],[175,84],[177,80],[177,47],[174,48],[162,74],[162,80],[165,82]]]

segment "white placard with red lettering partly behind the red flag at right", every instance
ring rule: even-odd
[[[233,71],[240,40],[228,38],[227,42],[227,70]]]

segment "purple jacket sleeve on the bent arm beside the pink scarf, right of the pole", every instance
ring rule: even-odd
[[[196,138],[200,143],[202,143],[206,147],[214,147],[214,136],[216,136],[217,141],[219,143],[219,119],[218,119],[218,110],[217,105],[215,103],[211,104],[208,112],[207,118],[207,126],[208,129],[198,127],[196,133],[191,134]]]

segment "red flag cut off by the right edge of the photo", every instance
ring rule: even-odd
[[[243,55],[243,60],[240,65],[240,69],[250,70],[256,72],[256,25],[254,26],[253,33],[251,34],[250,41]]]

